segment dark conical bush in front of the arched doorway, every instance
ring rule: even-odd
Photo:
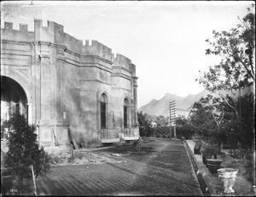
[[[35,127],[30,126],[24,115],[15,114],[8,122],[9,151],[5,164],[11,167],[21,179],[31,172],[33,166],[36,175],[49,171],[49,155],[44,148],[39,149]]]

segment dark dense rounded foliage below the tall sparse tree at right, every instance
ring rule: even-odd
[[[234,103],[236,108],[241,106],[241,121],[236,119],[236,114],[225,102],[210,104],[210,101],[209,97],[201,98],[191,107],[189,118],[195,132],[211,144],[224,143],[230,144],[233,149],[239,146],[245,150],[252,149],[255,112],[253,93],[237,98]],[[213,106],[217,111],[221,109],[221,113],[216,113]]]

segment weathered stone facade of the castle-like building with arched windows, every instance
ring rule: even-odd
[[[28,31],[4,22],[3,77],[26,93],[27,119],[40,144],[86,146],[139,136],[136,66],[100,42],[83,44],[62,25],[34,20]]]

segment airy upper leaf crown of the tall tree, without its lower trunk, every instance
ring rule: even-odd
[[[255,14],[248,8],[248,14],[240,20],[241,22],[230,31],[212,31],[213,41],[206,40],[210,48],[207,54],[219,55],[222,61],[219,65],[210,68],[206,77],[210,81],[218,79],[224,74],[222,81],[224,87],[237,89],[247,87],[254,82],[254,63],[255,55]],[[224,71],[224,73],[222,73]],[[250,82],[251,81],[251,82]],[[236,83],[240,82],[240,83]],[[218,88],[218,85],[216,86]],[[213,87],[214,88],[214,87]],[[223,87],[221,87],[223,88]]]

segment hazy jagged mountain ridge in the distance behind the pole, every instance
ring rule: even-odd
[[[206,97],[207,94],[212,94],[207,90],[201,91],[201,93],[197,93],[194,95],[189,94],[187,97],[179,97],[172,93],[166,93],[163,98],[160,100],[153,99],[148,104],[143,105],[138,109],[138,111],[143,111],[143,113],[147,113],[148,115],[164,115],[169,116],[169,102],[172,100],[176,100],[176,116],[189,114],[189,107],[198,101],[201,97]]]

